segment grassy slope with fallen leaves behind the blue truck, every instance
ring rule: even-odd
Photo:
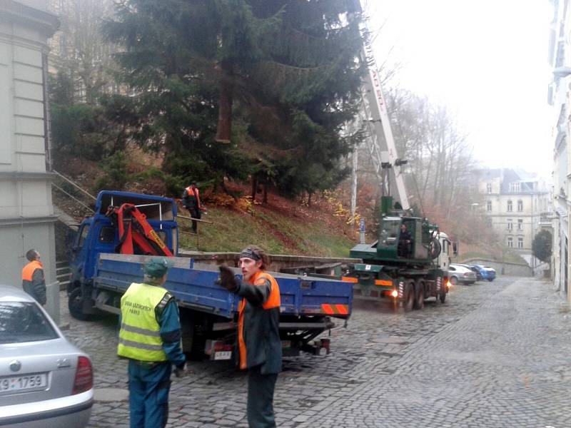
[[[188,215],[186,210],[180,214]],[[348,257],[356,242],[320,220],[283,215],[261,206],[256,206],[253,213],[212,207],[208,208],[208,215],[204,215],[203,220],[216,224],[199,223],[198,240],[196,236],[181,233],[181,248],[240,251],[248,244],[255,244],[270,254]],[[179,218],[178,223],[183,232],[190,230],[189,220]]]

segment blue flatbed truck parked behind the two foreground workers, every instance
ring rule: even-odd
[[[118,225],[110,207],[135,205],[173,255],[178,251],[176,203],[170,198],[136,193],[102,191],[96,212],[81,223],[71,246],[69,310],[86,320],[97,313],[119,313],[121,295],[131,282],[143,280],[145,254],[116,253],[121,245]],[[138,248],[135,246],[135,250]],[[140,250],[140,248],[138,249]],[[137,252],[137,251],[135,251]],[[174,257],[165,287],[176,297],[181,312],[183,350],[230,359],[236,342],[239,297],[216,284],[218,267]],[[235,269],[241,279],[241,271]],[[271,272],[281,293],[280,335],[284,355],[300,350],[328,353],[329,340],[318,338],[335,326],[333,319],[348,320],[353,305],[353,284],[331,278]]]

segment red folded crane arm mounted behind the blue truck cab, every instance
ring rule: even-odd
[[[148,224],[146,215],[132,203],[123,203],[120,207],[110,206],[107,215],[116,217],[119,231],[118,253],[135,254],[135,246],[145,255],[166,255],[173,253],[163,243],[155,230]]]

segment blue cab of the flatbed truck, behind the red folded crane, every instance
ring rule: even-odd
[[[174,255],[178,252],[176,203],[171,198],[138,193],[102,190],[96,199],[95,213],[84,218],[71,244],[71,275],[67,288],[70,312],[78,319],[96,313],[91,299],[93,276],[100,253],[119,253],[121,239],[116,219],[109,208],[130,203],[144,215],[148,225]],[[135,247],[135,254],[144,254]]]

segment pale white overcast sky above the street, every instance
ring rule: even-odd
[[[365,3],[365,1],[363,1]],[[368,0],[378,62],[455,111],[474,156],[550,178],[548,0]]]

